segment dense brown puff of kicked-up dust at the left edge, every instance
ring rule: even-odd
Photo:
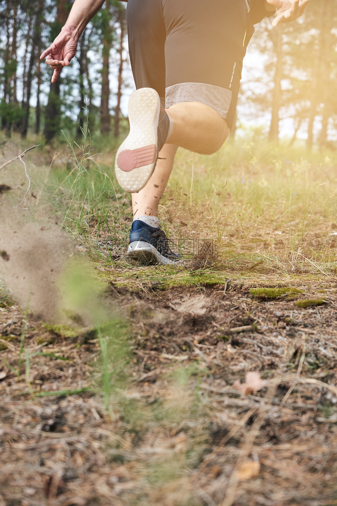
[[[69,241],[57,225],[26,223],[20,214],[0,209],[0,278],[23,308],[51,321],[59,309],[58,279]]]

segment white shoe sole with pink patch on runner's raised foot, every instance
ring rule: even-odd
[[[130,132],[118,148],[115,160],[117,181],[123,190],[141,190],[154,171],[158,157],[160,98],[152,88],[140,88],[130,97]]]

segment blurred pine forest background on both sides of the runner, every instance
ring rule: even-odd
[[[76,58],[51,85],[39,55],[64,25],[72,2],[0,2],[0,126],[62,139],[88,126],[94,137],[119,137],[126,98],[133,90],[127,55],[125,4],[107,0],[80,38]],[[245,60],[236,123],[265,138],[335,148],[337,143],[337,6],[311,0],[294,23],[256,25]],[[300,25],[300,26],[299,26]],[[252,126],[253,125],[253,126]]]

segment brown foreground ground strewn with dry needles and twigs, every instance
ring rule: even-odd
[[[110,414],[98,336],[25,323],[3,303],[0,505],[337,504],[335,286],[301,309],[235,282],[111,284],[132,353]],[[233,384],[248,371],[265,383],[245,395]]]

